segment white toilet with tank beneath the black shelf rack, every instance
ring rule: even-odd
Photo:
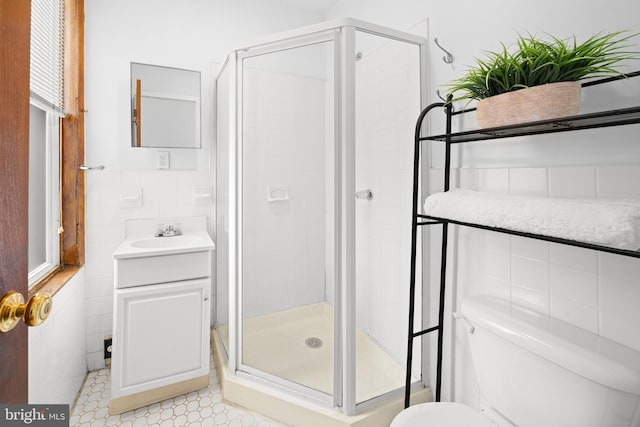
[[[391,427],[640,427],[640,352],[492,296],[458,314],[488,410],[422,403]]]

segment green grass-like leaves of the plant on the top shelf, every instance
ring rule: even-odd
[[[467,74],[451,81],[449,93],[461,92],[461,99],[483,99],[505,92],[546,83],[578,81],[585,78],[620,74],[614,66],[625,60],[640,59],[639,52],[629,51],[629,40],[638,33],[626,31],[597,33],[582,43],[575,36],[538,40],[518,35],[510,52],[503,44],[497,52],[486,52]]]

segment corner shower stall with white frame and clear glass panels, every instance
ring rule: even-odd
[[[342,19],[221,68],[215,333],[235,375],[348,415],[400,396],[425,49]]]

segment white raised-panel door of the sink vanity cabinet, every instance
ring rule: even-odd
[[[209,374],[210,279],[117,289],[112,398]]]

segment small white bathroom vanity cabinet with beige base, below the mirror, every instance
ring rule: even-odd
[[[209,384],[213,243],[205,237],[210,245],[155,252],[129,251],[125,241],[114,253],[111,414]]]

